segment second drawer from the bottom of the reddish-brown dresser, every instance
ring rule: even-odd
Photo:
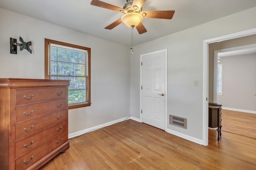
[[[58,123],[44,131],[40,131],[26,139],[17,141],[15,143],[15,157],[28,152],[36,148],[37,146],[41,145],[42,143],[48,141],[49,139],[53,138],[56,135],[66,131],[66,121],[62,123]]]

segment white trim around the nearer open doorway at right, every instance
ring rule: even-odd
[[[206,39],[203,41],[203,140],[202,140],[202,145],[207,146],[208,145],[208,45],[210,43],[216,43],[220,41],[225,41],[229,39],[235,39],[235,38],[240,38],[240,37],[245,37],[248,35],[254,35],[256,34],[256,28],[253,29],[248,29],[245,31],[240,31],[228,35],[223,35],[220,37],[215,37],[211,39]]]

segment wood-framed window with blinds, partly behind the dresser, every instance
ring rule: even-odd
[[[68,109],[90,106],[90,48],[45,39],[45,78],[70,80]]]

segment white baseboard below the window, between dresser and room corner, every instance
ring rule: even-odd
[[[88,132],[91,132],[91,131],[95,131],[95,130],[97,130],[97,129],[101,129],[102,127],[107,127],[107,126],[113,125],[113,124],[115,124],[115,123],[119,123],[119,122],[128,120],[128,119],[130,119],[130,117],[131,117],[131,116],[124,117],[124,118],[122,118],[122,119],[118,119],[118,120],[110,121],[110,122],[108,122],[108,123],[104,123],[104,124],[102,124],[102,125],[90,127],[90,128],[88,128],[88,129],[84,129],[84,130],[82,130],[82,131],[70,133],[70,134],[68,134],[68,139],[71,139],[71,138],[73,138],[73,137],[77,137],[77,136],[83,135],[83,134],[88,133]]]

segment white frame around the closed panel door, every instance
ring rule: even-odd
[[[158,50],[158,51],[153,51],[153,52],[150,52],[150,53],[146,53],[146,54],[141,54],[140,55],[140,122],[142,122],[142,113],[141,113],[141,110],[142,110],[142,89],[141,89],[141,86],[142,86],[142,65],[141,65],[141,63],[142,63],[142,57],[143,56],[146,56],[146,55],[152,55],[152,54],[156,54],[156,53],[162,53],[162,52],[164,52],[164,62],[165,62],[165,65],[164,65],[164,72],[165,72],[165,84],[164,84],[164,86],[165,86],[165,95],[164,95],[164,130],[166,130],[166,128],[167,128],[167,95],[168,95],[168,93],[167,93],[167,49],[162,49],[162,50]]]

